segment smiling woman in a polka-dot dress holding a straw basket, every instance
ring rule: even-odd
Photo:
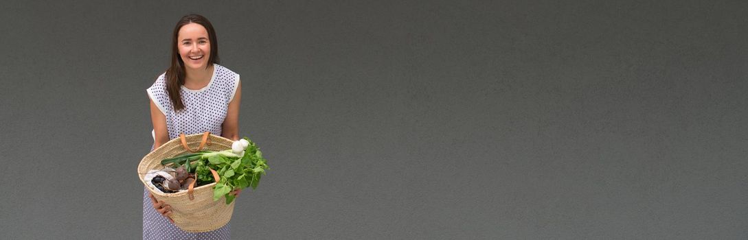
[[[153,149],[186,135],[211,132],[239,140],[239,75],[218,65],[215,30],[203,16],[183,16],[174,27],[171,65],[147,89]],[[235,192],[238,194],[238,192]],[[174,226],[171,206],[143,194],[143,239],[229,239],[230,226],[188,233]]]

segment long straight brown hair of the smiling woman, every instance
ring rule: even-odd
[[[210,43],[210,56],[208,58],[207,67],[212,64],[219,64],[218,59],[218,38],[215,37],[215,29],[210,24],[208,19],[199,14],[188,14],[183,16],[177,26],[174,27],[174,34],[171,34],[171,65],[166,70],[166,91],[169,93],[169,99],[171,99],[172,105],[174,105],[174,111],[182,110],[185,108],[182,102],[182,96],[180,95],[180,88],[185,84],[185,63],[180,58],[180,50],[177,48],[177,37],[180,34],[180,29],[189,23],[197,23],[203,25],[208,31],[208,42]]]

